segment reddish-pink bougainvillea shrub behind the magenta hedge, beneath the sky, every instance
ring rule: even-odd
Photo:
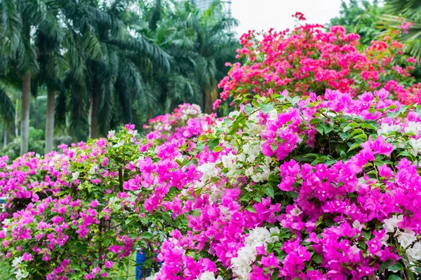
[[[270,96],[283,90],[308,95],[331,89],[354,95],[382,87],[404,104],[418,102],[421,95],[420,85],[413,88],[410,77],[416,60],[403,55],[396,38],[386,36],[361,49],[359,35],[346,34],[341,26],[326,32],[322,25],[301,25],[291,32],[249,31],[240,41],[243,48],[237,57],[245,63],[232,64],[220,82],[224,100],[250,101],[253,94]]]

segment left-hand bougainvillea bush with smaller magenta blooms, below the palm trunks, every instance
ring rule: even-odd
[[[107,139],[62,145],[62,153],[44,158],[28,153],[11,165],[1,158],[1,194],[9,198],[0,247],[11,274],[114,279],[134,273],[122,271],[134,267],[135,248],[147,255],[145,269],[156,268],[158,244],[187,223],[175,195],[195,169],[178,169],[177,158],[189,148],[186,139],[211,123],[212,116],[185,104],[161,123],[154,120],[165,129],[144,138],[126,125]]]

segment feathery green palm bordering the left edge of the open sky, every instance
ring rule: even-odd
[[[151,110],[169,111],[182,102],[199,103],[207,113],[218,94],[218,81],[227,73],[239,47],[230,31],[236,21],[214,3],[201,14],[190,1],[156,0],[142,7],[147,27],[139,32],[151,38],[172,57],[170,73],[147,73],[150,97],[161,104]]]

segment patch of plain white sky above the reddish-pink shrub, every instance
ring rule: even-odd
[[[294,27],[295,12],[304,13],[306,23],[326,24],[339,15],[340,0],[232,0],[232,16],[240,21],[239,34],[274,28],[281,31]]]

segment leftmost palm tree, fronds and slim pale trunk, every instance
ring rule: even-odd
[[[48,34],[55,41],[60,36],[56,3],[51,0],[5,0],[0,3],[0,36],[12,71],[22,80],[22,117],[20,153],[28,151],[29,102],[32,78],[39,72],[35,41],[37,34]],[[33,89],[36,91],[36,88]]]

